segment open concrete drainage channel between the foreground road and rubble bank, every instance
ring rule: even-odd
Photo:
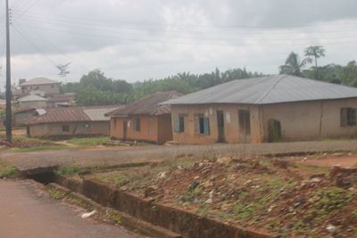
[[[135,194],[120,191],[93,179],[56,176],[52,168],[37,168],[21,174],[48,189],[70,194],[92,208],[115,210],[120,225],[158,238],[268,238],[239,226],[231,226],[211,218],[199,217],[183,209],[145,200]]]

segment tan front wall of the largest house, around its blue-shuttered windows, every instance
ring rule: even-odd
[[[238,110],[250,111],[250,135],[242,135],[240,131]],[[223,111],[224,135],[227,143],[260,143],[262,141],[259,108],[254,105],[238,104],[171,105],[172,127],[174,127],[175,117],[185,116],[185,131],[182,133],[173,132],[173,140],[182,144],[212,144],[218,142],[217,111]],[[203,114],[209,118],[209,135],[195,133],[196,114]]]

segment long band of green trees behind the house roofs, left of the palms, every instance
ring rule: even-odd
[[[245,69],[233,69],[220,72],[195,75],[189,72],[179,73],[162,79],[149,79],[144,82],[129,84],[125,80],[106,78],[100,70],[93,70],[80,78],[79,83],[62,86],[63,93],[75,93],[74,101],[79,105],[109,105],[130,103],[159,91],[176,90],[182,94],[192,93],[203,88],[216,86],[234,79],[260,76]]]

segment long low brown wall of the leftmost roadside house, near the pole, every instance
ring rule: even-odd
[[[70,131],[63,132],[62,126],[68,125]],[[86,127],[89,125],[89,127]],[[30,125],[29,136],[47,137],[62,135],[109,135],[109,121],[89,121],[89,122],[70,122],[70,123],[45,123]]]

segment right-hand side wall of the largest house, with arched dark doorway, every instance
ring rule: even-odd
[[[269,119],[278,119],[283,141],[357,135],[357,127],[341,127],[341,108],[357,108],[357,99],[281,103],[262,106],[263,140],[268,141]]]

